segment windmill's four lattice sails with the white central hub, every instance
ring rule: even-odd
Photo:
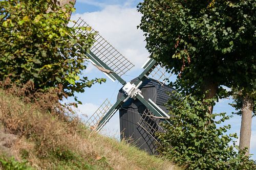
[[[90,27],[87,22],[79,18],[73,27]],[[140,89],[140,86],[146,80],[150,80],[149,76],[153,77],[159,85],[163,86],[165,81],[170,77],[170,70],[167,70],[161,63],[157,63],[154,59],[148,59],[142,66],[144,69],[136,80],[126,82],[122,76],[129,71],[134,64],[127,60],[120,54],[108,41],[106,41],[94,29],[91,30],[78,30],[79,34],[95,34],[95,43],[90,48],[90,52],[85,55],[89,58],[94,66],[101,70],[112,81],[118,81],[122,84],[121,93],[115,104],[111,104],[106,99],[97,111],[89,118],[87,124],[92,130],[100,131],[106,123],[109,122],[111,117],[122,108],[122,105],[128,100],[137,100],[145,106],[145,110],[141,113],[141,118],[138,125],[144,131],[155,139],[154,133],[156,131],[163,131],[159,121],[166,123],[169,122],[169,115],[160,108],[152,99],[145,99]],[[82,44],[78,44],[82,46]],[[80,53],[82,53],[80,51]],[[167,71],[166,71],[167,70]],[[153,124],[152,124],[153,122]],[[157,124],[157,125],[156,125]],[[157,128],[156,128],[157,127]]]

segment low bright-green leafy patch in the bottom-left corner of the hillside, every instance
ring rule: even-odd
[[[0,167],[6,170],[29,170],[33,169],[27,166],[27,161],[18,162],[13,157],[11,158],[0,158]]]

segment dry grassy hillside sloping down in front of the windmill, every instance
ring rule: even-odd
[[[0,169],[179,169],[0,90]]]

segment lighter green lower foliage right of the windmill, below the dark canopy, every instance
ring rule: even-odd
[[[187,165],[187,169],[255,168],[255,162],[244,156],[243,151],[236,152],[233,139],[237,135],[225,134],[230,125],[217,126],[229,116],[208,114],[207,104],[195,96],[174,92],[171,98],[168,109],[172,125],[165,124],[166,132],[158,134],[161,154],[180,165]]]

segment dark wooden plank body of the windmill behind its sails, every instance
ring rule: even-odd
[[[132,82],[135,82],[136,80],[137,79]],[[161,109],[168,113],[164,107],[164,104],[169,99],[166,92],[173,91],[173,88],[166,85],[161,86],[160,83],[153,79],[145,80],[139,88],[146,100],[151,99]],[[118,98],[122,95],[122,90],[120,89]],[[157,154],[155,136],[146,132],[146,128],[143,128],[141,119],[147,121],[147,123],[155,129],[160,129],[158,127],[160,119],[148,119],[147,116],[143,115],[145,109],[146,107],[139,100],[134,99],[129,99],[122,105],[119,110],[121,139],[125,139],[128,142],[135,144],[138,148],[145,150],[149,154]]]

